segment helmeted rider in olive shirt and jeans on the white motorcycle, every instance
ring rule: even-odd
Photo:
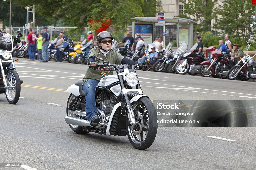
[[[87,69],[86,74],[83,78],[83,90],[86,94],[86,115],[88,121],[93,123],[92,126],[98,124],[101,120],[97,115],[98,111],[95,103],[95,89],[100,82],[100,79],[104,76],[111,75],[113,72],[112,67],[104,67],[104,70],[109,71],[100,71],[99,63],[102,63],[101,60],[95,58],[100,57],[104,58],[105,61],[109,61],[111,64],[128,64],[130,66],[138,64],[135,61],[124,58],[120,53],[111,49],[113,36],[108,31],[103,31],[97,36],[97,46],[91,49],[89,52],[88,65],[93,66],[92,69]]]

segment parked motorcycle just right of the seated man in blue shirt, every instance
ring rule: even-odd
[[[164,54],[165,54],[164,57],[162,59],[158,59],[155,62],[154,66],[153,66],[153,69],[155,72],[164,71],[166,61],[168,61],[169,59],[173,59],[172,45],[173,45],[172,43],[169,43],[164,51]]]

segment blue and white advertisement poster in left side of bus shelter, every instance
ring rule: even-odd
[[[153,42],[153,24],[135,24],[134,38],[137,37],[136,33],[141,34],[141,37],[144,39],[145,46]]]

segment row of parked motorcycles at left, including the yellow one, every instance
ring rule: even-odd
[[[49,51],[49,60],[56,61],[56,51],[55,45],[57,43],[57,38],[52,40],[49,43],[48,51]],[[68,61],[69,63],[76,63],[76,64],[87,64],[88,62],[88,54],[89,51],[93,48],[93,41],[86,42],[86,39],[78,44],[74,44],[72,39],[68,39],[64,42],[64,51],[62,55],[62,60]],[[28,49],[26,41],[22,41],[16,45],[13,52],[13,57],[18,58],[28,58]],[[36,50],[36,58],[38,56]]]

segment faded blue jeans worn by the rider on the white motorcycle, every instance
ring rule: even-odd
[[[85,92],[86,100],[85,111],[89,122],[92,121],[92,118],[94,116],[98,116],[98,111],[95,103],[95,91],[99,82],[99,80],[87,80],[83,83],[83,91]]]

